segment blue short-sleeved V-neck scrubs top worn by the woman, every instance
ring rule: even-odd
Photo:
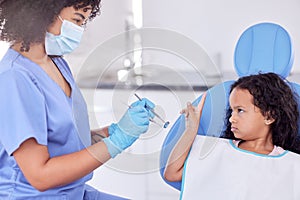
[[[29,138],[46,145],[51,157],[91,144],[86,103],[64,59],[53,61],[72,89],[70,97],[41,67],[13,49],[8,49],[0,62],[0,199],[79,200],[83,199],[85,182],[92,178],[89,174],[39,192],[12,156]]]

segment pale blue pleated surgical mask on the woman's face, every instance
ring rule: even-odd
[[[46,33],[45,48],[48,55],[61,56],[71,53],[79,46],[84,31],[84,28],[58,17],[62,21],[60,35]]]

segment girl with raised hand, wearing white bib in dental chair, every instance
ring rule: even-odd
[[[186,129],[164,173],[168,181],[182,180],[181,198],[300,199],[299,112],[289,85],[274,73],[237,80],[226,139],[197,135],[205,97],[181,111]]]

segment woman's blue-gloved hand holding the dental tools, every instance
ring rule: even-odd
[[[150,118],[154,117],[151,112],[154,107],[151,101],[143,98],[131,104],[118,123],[109,126],[109,137],[103,141],[112,158],[132,145],[142,133],[148,130]]]

